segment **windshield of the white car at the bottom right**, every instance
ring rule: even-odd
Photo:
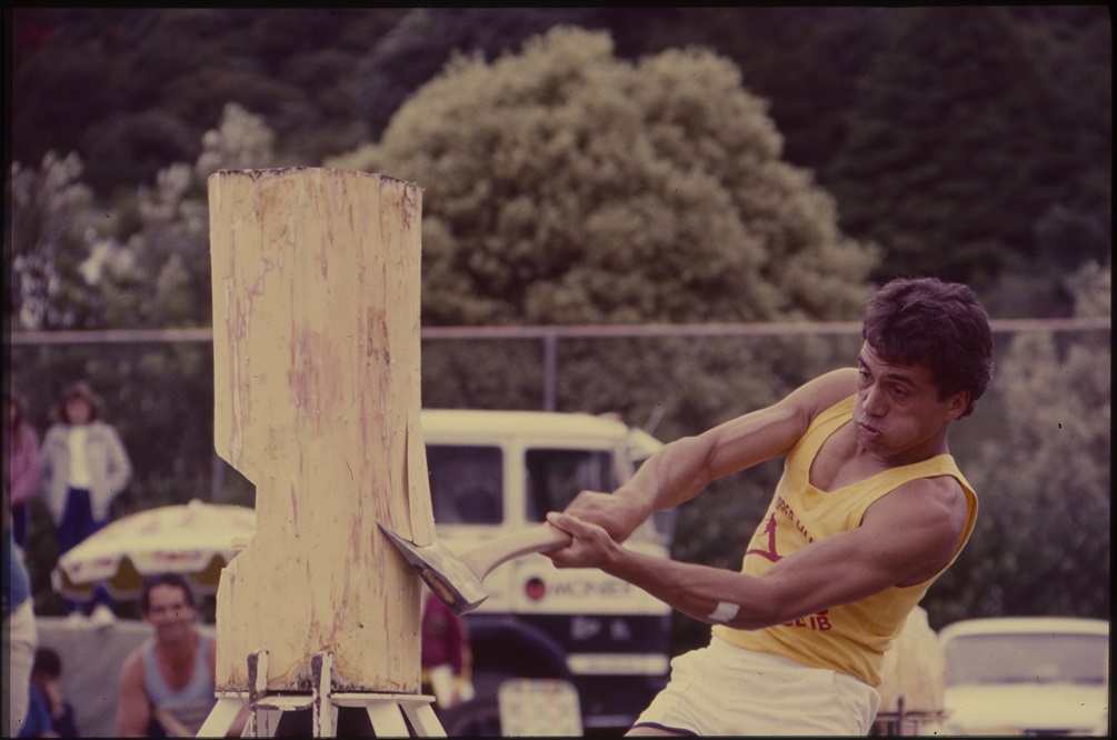
[[[1056,632],[960,635],[946,650],[946,683],[1105,683],[1106,635]]]

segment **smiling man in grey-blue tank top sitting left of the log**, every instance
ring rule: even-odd
[[[143,619],[154,635],[121,669],[116,725],[122,738],[194,737],[217,703],[213,638],[198,630],[190,585],[168,573],[144,580]],[[245,715],[229,737],[239,737]]]

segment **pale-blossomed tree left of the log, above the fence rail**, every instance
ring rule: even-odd
[[[261,116],[226,107],[191,165],[161,170],[115,208],[101,208],[76,154],[47,155],[39,170],[11,170],[13,328],[209,326],[209,209],[206,180],[221,167],[275,163]]]

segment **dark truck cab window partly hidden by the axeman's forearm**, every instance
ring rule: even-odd
[[[528,450],[528,521],[543,521],[547,511],[562,511],[584,490],[609,492],[620,482],[613,455],[605,450]]]

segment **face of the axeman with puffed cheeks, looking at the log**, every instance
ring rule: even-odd
[[[865,450],[896,464],[946,452],[946,425],[965,411],[965,393],[939,398],[927,365],[886,363],[867,342],[857,365],[853,422]]]

